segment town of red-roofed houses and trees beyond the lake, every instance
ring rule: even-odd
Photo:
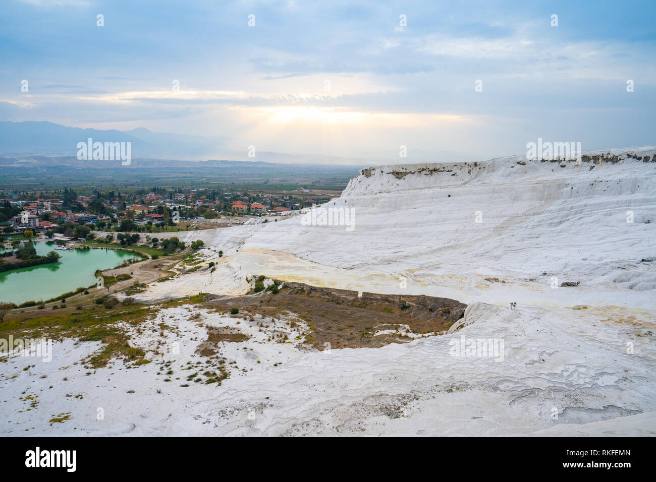
[[[0,193],[0,235],[7,239],[12,234],[30,231],[32,235],[52,237],[59,232],[66,241],[64,233],[67,231],[68,238],[77,237],[72,235],[75,226],[120,231],[121,222],[131,220],[128,226],[136,227],[136,231],[150,231],[174,224],[171,222],[174,211],[178,212],[180,220],[220,220],[280,214],[319,205],[331,198],[329,193],[317,193],[314,197],[309,197],[308,193],[310,191],[304,188],[278,194],[250,194],[228,191],[228,188],[153,188],[151,191],[92,193],[75,193],[68,188],[54,192],[9,191]]]

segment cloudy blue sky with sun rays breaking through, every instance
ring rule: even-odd
[[[656,144],[655,5],[3,0],[0,121],[358,164]]]

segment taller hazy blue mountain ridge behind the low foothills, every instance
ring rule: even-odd
[[[224,138],[184,136],[152,132],[143,127],[131,131],[103,131],[66,127],[52,122],[0,122],[0,155],[75,156],[77,143],[131,142],[133,157],[159,159],[207,159],[216,153]]]

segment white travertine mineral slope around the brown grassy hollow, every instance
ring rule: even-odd
[[[247,277],[266,275],[469,306],[449,334],[330,351],[304,348],[307,327],[294,327],[292,314],[251,321],[166,308],[131,340],[160,347],[148,365],[113,361],[87,374],[81,360],[100,344],[75,340],[56,343],[49,363],[1,363],[0,433],[654,435],[656,147],[584,154],[619,161],[373,167],[321,207],[350,210],[352,230],[308,226],[299,212],[175,233],[205,241],[203,268],[134,297],[243,294]],[[236,363],[220,386],[186,382],[207,370],[195,350],[208,327],[251,335],[224,344],[222,356]],[[472,340],[502,353],[454,352]],[[167,348],[174,342],[179,353]],[[51,424],[59,414],[70,419]]]

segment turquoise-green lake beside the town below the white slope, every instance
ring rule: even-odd
[[[37,254],[53,251],[56,243],[35,243]],[[57,251],[56,263],[19,268],[0,273],[0,301],[20,304],[30,300],[47,300],[96,283],[96,270],[114,268],[125,259],[138,257],[133,252],[109,249],[75,249]]]

